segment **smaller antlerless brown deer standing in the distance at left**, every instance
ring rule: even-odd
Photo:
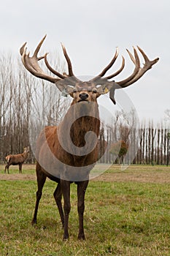
[[[22,154],[9,154],[7,157],[5,157],[7,161],[7,165],[5,166],[4,173],[9,173],[9,166],[10,165],[19,165],[19,173],[22,173],[22,166],[23,162],[28,158],[29,154],[29,147],[23,148]]]

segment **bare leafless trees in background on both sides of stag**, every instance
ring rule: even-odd
[[[65,65],[59,59],[55,62],[65,71]],[[55,86],[28,74],[20,59],[1,54],[0,162],[4,162],[7,154],[22,153],[26,146],[32,148],[36,129],[57,125],[70,102],[71,99],[63,97]],[[169,113],[167,110],[170,120]],[[152,122],[136,125],[134,110],[131,110],[130,119],[123,111],[117,111],[112,122],[101,122],[99,162],[123,162],[126,157],[134,164],[169,165],[169,127],[163,124],[154,127]],[[35,162],[34,151],[27,162]]]

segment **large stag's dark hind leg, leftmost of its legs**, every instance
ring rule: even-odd
[[[34,217],[32,219],[32,225],[36,224],[36,217],[37,217],[37,212],[39,208],[39,200],[42,197],[42,189],[45,185],[45,181],[47,178],[45,173],[42,172],[41,167],[39,165],[36,165],[36,178],[37,178],[38,190],[36,191],[36,206],[34,210]]]

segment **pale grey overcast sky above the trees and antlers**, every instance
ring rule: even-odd
[[[141,120],[159,121],[170,109],[169,0],[6,0],[1,1],[0,24],[1,53],[17,56],[26,41],[28,49],[34,50],[47,34],[42,50],[61,54],[63,42],[77,76],[98,75],[118,46],[126,66],[115,80],[125,78],[134,68],[125,48],[139,45],[150,59],[160,60],[125,93]],[[121,57],[115,66],[120,62]]]

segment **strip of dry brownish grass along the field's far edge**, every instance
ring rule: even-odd
[[[3,167],[1,168],[3,170]],[[0,173],[0,180],[4,181],[36,181],[35,165],[24,165],[23,173],[18,173],[17,167],[11,167],[11,173]],[[15,173],[14,173],[15,172]],[[121,171],[120,167],[113,165],[107,173],[94,178],[93,181],[117,182],[148,182],[169,184],[170,168],[165,166],[131,165]]]

